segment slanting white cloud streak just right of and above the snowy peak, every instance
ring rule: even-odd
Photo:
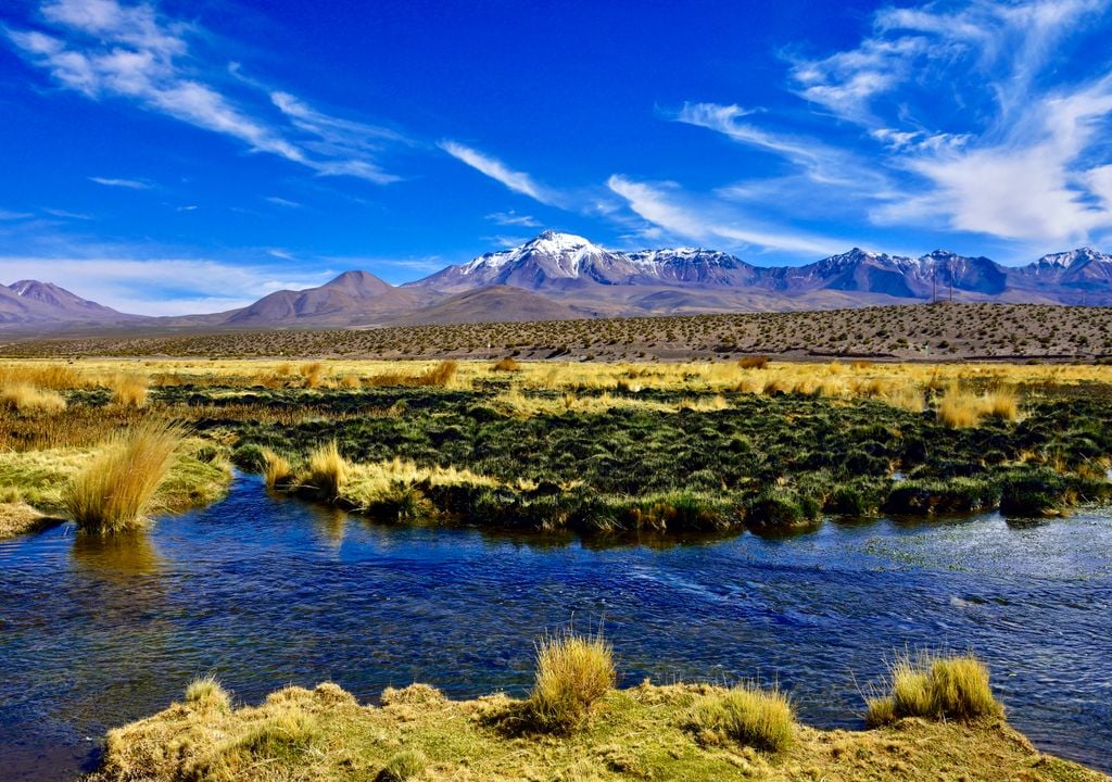
[[[738,225],[741,220],[712,215],[706,208],[682,202],[674,186],[637,182],[618,175],[607,180],[610,190],[624,198],[629,208],[648,222],[674,236],[696,241],[726,240],[733,246],[757,247],[808,255],[828,255],[838,242],[803,232],[781,232],[758,226]]]

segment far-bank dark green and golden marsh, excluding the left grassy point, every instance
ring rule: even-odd
[[[1109,366],[83,360],[0,375],[0,447],[52,458],[8,478],[0,454],[0,488],[29,494],[148,417],[187,425],[209,461],[391,522],[777,531],[1058,515],[1112,494]]]

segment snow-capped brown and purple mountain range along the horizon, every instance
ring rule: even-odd
[[[346,271],[226,313],[127,315],[37,280],[0,286],[8,330],[371,327],[391,324],[828,309],[962,301],[1112,305],[1112,256],[1083,247],[1020,267],[934,250],[919,258],[854,248],[805,266],[755,266],[695,247],[624,253],[547,230],[394,286]]]

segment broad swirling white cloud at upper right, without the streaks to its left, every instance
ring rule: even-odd
[[[1080,244],[1112,227],[1112,76],[1071,82],[1063,46],[1109,0],[973,0],[886,8],[847,51],[796,60],[797,95],[865,129],[903,194],[878,224]],[[1106,62],[1099,66],[1106,68]]]

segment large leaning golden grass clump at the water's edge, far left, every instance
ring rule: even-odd
[[[157,420],[112,435],[70,481],[63,507],[85,532],[113,533],[141,526],[182,438],[181,426]]]

